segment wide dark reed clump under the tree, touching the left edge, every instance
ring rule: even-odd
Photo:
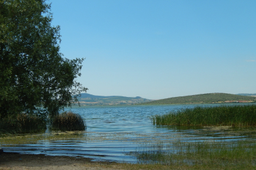
[[[36,115],[21,113],[16,118],[4,118],[0,122],[1,133],[36,133],[46,130],[46,120]]]

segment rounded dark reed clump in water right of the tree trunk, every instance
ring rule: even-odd
[[[51,130],[75,131],[85,130],[86,125],[83,118],[71,111],[61,113],[52,120]]]

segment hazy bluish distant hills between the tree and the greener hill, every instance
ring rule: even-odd
[[[140,96],[131,98],[125,96],[95,96],[88,93],[82,93],[77,98],[81,105],[134,105],[152,101],[151,99],[141,98]]]

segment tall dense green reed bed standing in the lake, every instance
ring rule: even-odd
[[[154,125],[255,127],[256,105],[196,106],[152,116]]]

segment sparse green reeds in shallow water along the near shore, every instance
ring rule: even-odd
[[[254,141],[225,142],[173,142],[171,144],[143,144],[136,152],[130,152],[142,164],[255,166]]]

